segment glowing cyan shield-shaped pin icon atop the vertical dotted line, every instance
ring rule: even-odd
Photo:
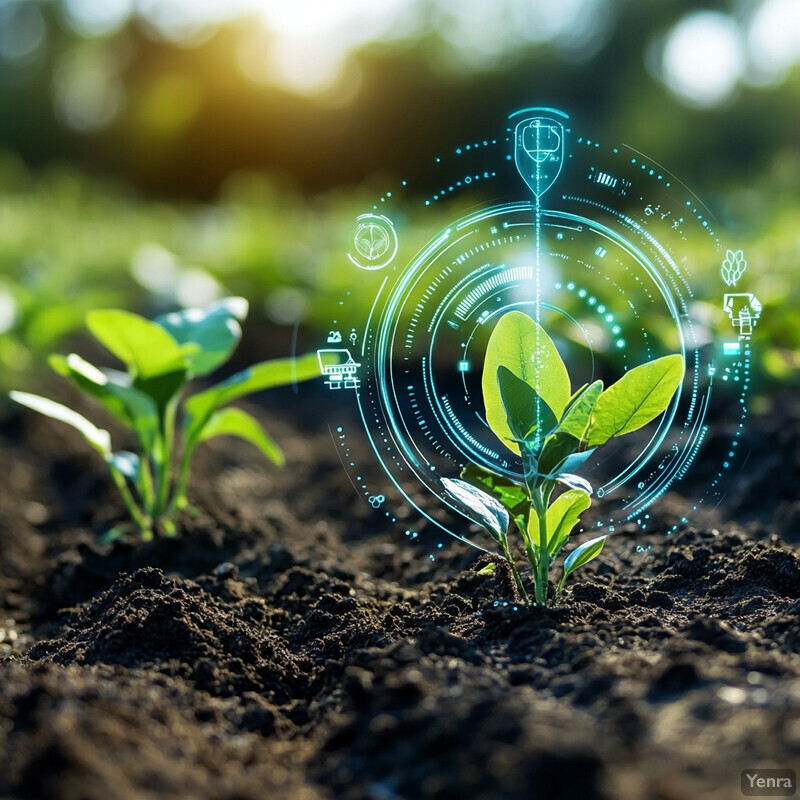
[[[539,200],[561,173],[564,126],[546,115],[520,120],[514,129],[514,163]]]

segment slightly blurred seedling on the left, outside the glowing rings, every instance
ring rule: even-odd
[[[74,353],[50,357],[56,372],[132,432],[137,452],[114,451],[108,431],[60,403],[26,392],[10,396],[83,434],[108,465],[142,539],[152,539],[154,532],[174,536],[178,514],[188,506],[192,456],[202,442],[214,436],[238,436],[275,464],[284,463],[280,448],[261,425],[228,404],[262,389],[319,375],[314,354],[263,361],[181,403],[192,378],[208,375],[228,360],[241,338],[239,323],[247,311],[247,301],[241,297],[154,321],[128,311],[91,311],[86,318],[89,330],[125,365],[125,371],[98,369]],[[114,530],[114,536],[119,533]]]

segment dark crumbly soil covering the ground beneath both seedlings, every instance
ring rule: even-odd
[[[318,408],[250,406],[290,466],[210,443],[148,544],[96,544],[122,508],[72,431],[0,426],[0,797],[727,800],[800,766],[796,407],[716,527],[665,536],[666,497],[555,610],[390,525]]]

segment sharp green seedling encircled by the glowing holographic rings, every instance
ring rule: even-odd
[[[544,329],[519,311],[501,318],[486,349],[483,399],[489,427],[522,460],[522,479],[469,464],[463,480],[445,478],[443,484],[500,545],[524,602],[530,599],[509,546],[509,519],[522,535],[536,604],[555,603],[567,578],[600,554],[606,538],[585,542],[566,557],[551,595],[550,568],[591,505],[592,487],[575,473],[596,448],[659,416],[683,372],[683,358],[670,355],[628,370],[607,389],[595,381],[573,393]],[[556,497],[558,486],[565,490]]]

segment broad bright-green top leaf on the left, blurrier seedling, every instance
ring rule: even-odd
[[[129,311],[90,311],[86,324],[104,347],[142,379],[186,369],[189,353],[197,350],[197,345],[180,345],[161,325]]]

